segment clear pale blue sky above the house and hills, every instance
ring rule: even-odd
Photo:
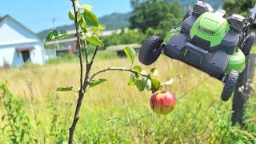
[[[98,17],[131,11],[130,0],[80,0],[80,3],[93,6],[93,11]],[[2,0],[0,15],[9,14],[30,30],[39,32],[54,25],[71,24],[67,17],[71,8],[70,0]]]

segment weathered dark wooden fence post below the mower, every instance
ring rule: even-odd
[[[235,125],[239,123],[241,126],[244,125],[244,112],[246,109],[246,101],[251,96],[252,84],[254,80],[254,71],[256,64],[256,54],[250,54],[246,58],[246,68],[239,74],[237,86],[234,90],[234,99],[233,99],[233,114],[232,114],[232,123]]]

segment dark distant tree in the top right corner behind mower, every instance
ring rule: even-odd
[[[223,0],[223,9],[228,14],[242,14],[247,17],[256,0]]]

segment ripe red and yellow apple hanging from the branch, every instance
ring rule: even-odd
[[[176,105],[175,95],[169,91],[157,91],[155,92],[150,99],[151,109],[156,114],[169,114]]]

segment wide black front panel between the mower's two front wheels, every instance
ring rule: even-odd
[[[229,57],[226,51],[217,50],[210,53],[198,46],[186,41],[186,35],[178,34],[170,39],[164,50],[165,54],[174,59],[178,59],[190,66],[194,66],[198,70],[202,70],[214,78],[222,80],[225,75],[226,66]],[[179,44],[185,42],[186,44]]]

